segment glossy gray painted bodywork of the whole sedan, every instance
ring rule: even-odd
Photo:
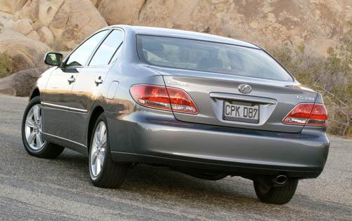
[[[108,116],[108,138],[116,161],[206,168],[232,175],[287,173],[296,178],[315,178],[321,173],[329,149],[326,127],[282,123],[299,102],[322,102],[321,95],[296,80],[272,81],[146,65],[138,58],[135,35],[258,46],[173,29],[125,25],[106,29],[125,32],[116,62],[101,67],[54,67],[38,80],[46,140],[86,153],[89,118],[96,107],[102,107]],[[70,76],[75,77],[75,83],[68,83]],[[94,80],[99,77],[103,83],[96,85]],[[117,83],[111,92],[113,82]],[[137,83],[182,88],[196,103],[199,114],[137,105],[129,91]],[[239,93],[241,83],[249,84],[251,93]],[[258,100],[259,123],[223,120],[224,96],[230,100]]]

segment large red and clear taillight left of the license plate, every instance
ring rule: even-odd
[[[132,98],[146,107],[174,112],[198,114],[198,109],[189,95],[178,88],[136,84],[130,88]]]

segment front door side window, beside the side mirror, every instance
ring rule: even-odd
[[[98,32],[91,36],[87,41],[84,41],[80,47],[78,47],[68,58],[65,67],[72,66],[84,66],[87,64],[90,55],[92,55],[94,49],[98,43],[103,39],[108,30]]]

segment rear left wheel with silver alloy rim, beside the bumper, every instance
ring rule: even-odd
[[[106,114],[96,120],[89,148],[89,174],[96,187],[118,188],[125,180],[129,168],[116,163],[111,157]]]

